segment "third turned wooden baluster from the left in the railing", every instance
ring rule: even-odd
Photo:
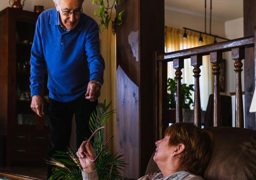
[[[221,126],[220,94],[219,94],[219,62],[222,60],[222,52],[211,52],[210,61],[213,63],[214,94],[213,94],[213,126]]]

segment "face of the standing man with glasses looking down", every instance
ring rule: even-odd
[[[80,14],[77,12],[82,9],[82,0],[59,0],[59,4],[54,4],[57,11],[59,11],[62,24],[69,30],[74,29],[80,19]],[[72,13],[67,13],[69,11]],[[63,14],[63,12],[68,15]]]

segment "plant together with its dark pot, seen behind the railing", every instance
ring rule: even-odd
[[[193,117],[193,111],[190,111],[190,106],[194,105],[191,99],[191,92],[194,92],[194,84],[181,83],[181,104],[183,121],[190,122]],[[177,80],[176,78],[167,79],[167,109],[169,111],[169,118],[172,122],[175,121],[175,108],[176,108],[176,94],[177,94]]]

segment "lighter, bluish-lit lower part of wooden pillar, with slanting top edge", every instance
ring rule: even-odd
[[[124,154],[129,165],[124,170],[124,176],[137,178],[139,176],[139,88],[117,68],[117,141],[119,152]]]

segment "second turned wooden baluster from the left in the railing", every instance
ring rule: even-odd
[[[202,56],[191,56],[191,66],[194,66],[193,73],[195,77],[195,95],[194,95],[194,123],[197,127],[201,128],[201,100],[200,100],[200,88],[199,77],[202,65]]]

